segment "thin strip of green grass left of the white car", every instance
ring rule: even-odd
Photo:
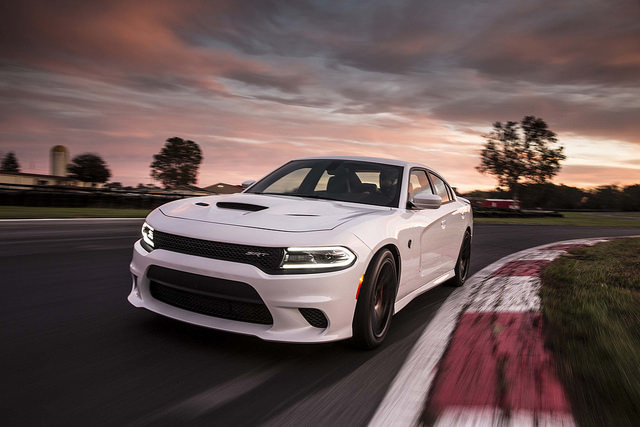
[[[144,218],[148,209],[50,208],[0,206],[0,219],[10,218]]]

